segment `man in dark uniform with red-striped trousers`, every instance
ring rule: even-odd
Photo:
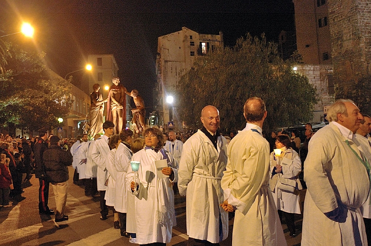
[[[49,180],[45,176],[44,164],[42,156],[44,151],[48,149],[46,140],[49,137],[48,131],[39,130],[39,138],[35,143],[35,177],[38,178],[40,187],[38,188],[38,212],[45,214],[54,214],[54,211],[49,209]]]

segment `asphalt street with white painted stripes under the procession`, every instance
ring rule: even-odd
[[[24,183],[24,193],[12,199],[13,206],[0,208],[0,246],[132,246],[129,239],[113,228],[113,213],[107,220],[100,220],[99,196],[85,196],[84,188],[74,185],[73,168],[69,167],[68,198],[66,214],[69,220],[54,221],[54,215],[38,213],[38,179],[33,175],[30,182]],[[49,192],[49,207],[56,208],[52,187]],[[185,196],[175,196],[177,226],[168,246],[186,246]],[[289,246],[299,246],[301,239],[302,216],[296,215],[299,235],[289,237],[283,225]],[[229,221],[229,235],[221,246],[232,245],[233,219]]]

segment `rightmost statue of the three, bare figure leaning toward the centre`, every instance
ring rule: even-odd
[[[133,114],[132,118],[132,126],[135,129],[136,133],[142,134],[146,124],[144,123],[144,118],[146,116],[146,109],[144,109],[144,100],[139,92],[136,89],[131,90],[129,93],[125,90],[125,93],[131,96],[134,99],[134,104],[136,108],[131,109],[131,113]]]

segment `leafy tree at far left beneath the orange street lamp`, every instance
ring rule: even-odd
[[[71,107],[67,81],[48,70],[43,54],[9,44],[0,74],[0,125],[38,130],[55,128]]]

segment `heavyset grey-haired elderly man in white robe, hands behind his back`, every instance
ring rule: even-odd
[[[302,246],[367,245],[359,208],[369,195],[370,169],[355,137],[362,119],[351,100],[340,99],[328,111],[330,124],[309,142]]]

